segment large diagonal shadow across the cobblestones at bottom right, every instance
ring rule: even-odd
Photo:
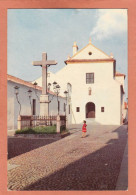
[[[115,190],[127,130],[119,127],[114,132],[118,133],[118,139],[109,140],[100,150],[43,177],[23,190]],[[70,155],[72,158],[76,154]]]

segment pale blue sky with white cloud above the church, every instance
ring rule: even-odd
[[[116,59],[116,70],[126,75],[127,97],[127,9],[9,9],[8,74],[26,81],[41,76],[41,67],[32,61],[42,59],[58,64],[49,71],[65,66],[76,41],[79,50],[91,38],[92,44]]]

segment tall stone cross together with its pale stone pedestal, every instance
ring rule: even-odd
[[[47,67],[56,65],[55,60],[47,60],[47,53],[42,53],[42,61],[33,61],[34,66],[42,67],[42,95],[40,96],[40,115],[49,115],[49,96],[47,94]]]

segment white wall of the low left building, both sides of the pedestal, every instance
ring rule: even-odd
[[[27,91],[29,89],[32,90],[32,99],[36,99],[36,115],[40,114],[40,103],[39,100],[35,94],[35,89],[27,87],[25,85],[21,85],[18,83],[14,83],[12,81],[8,81],[8,130],[17,129],[17,118],[19,115],[19,109],[20,106],[16,100],[16,95],[14,94],[14,87],[15,86],[20,87],[19,88],[19,95],[18,99],[21,103],[21,115],[31,115],[31,107],[30,107],[30,101],[28,97]],[[40,90],[36,90],[38,97],[41,95]],[[52,95],[49,94],[49,100],[52,99]],[[64,103],[65,99],[62,97],[58,97],[58,100],[60,101],[60,115],[65,115],[64,112]],[[57,114],[57,97],[54,96],[51,103],[49,104],[49,114],[56,115]]]

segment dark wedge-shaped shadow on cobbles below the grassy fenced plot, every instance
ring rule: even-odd
[[[55,142],[55,139],[8,138],[8,159]]]

